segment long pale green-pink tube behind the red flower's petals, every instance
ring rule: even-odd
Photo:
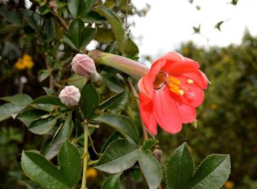
[[[110,53],[104,53],[102,51],[91,51],[88,53],[97,64],[103,64],[105,66],[111,66],[114,69],[122,71],[133,78],[140,79],[149,72],[149,68],[144,64],[140,64],[135,60],[128,59],[119,55],[113,55]]]

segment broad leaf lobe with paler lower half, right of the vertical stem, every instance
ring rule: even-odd
[[[111,174],[122,172],[135,164],[137,156],[138,147],[120,139],[106,148],[95,168]]]

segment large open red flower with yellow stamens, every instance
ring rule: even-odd
[[[180,132],[182,123],[196,120],[196,107],[204,100],[202,89],[208,85],[199,67],[178,53],[167,53],[138,82],[140,114],[151,134],[157,134],[157,125],[174,134]]]

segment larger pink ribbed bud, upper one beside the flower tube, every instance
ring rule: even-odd
[[[75,55],[71,66],[75,73],[86,78],[91,77],[96,72],[94,60],[84,54]]]

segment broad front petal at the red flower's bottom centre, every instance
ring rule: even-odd
[[[155,91],[153,98],[153,116],[164,131],[177,133],[182,129],[180,114],[175,100],[169,95],[169,89],[164,87]]]

